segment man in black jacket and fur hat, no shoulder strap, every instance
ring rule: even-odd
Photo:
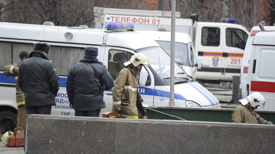
[[[20,64],[18,86],[25,94],[27,114],[51,114],[51,106],[56,105],[59,77],[46,57],[49,49],[46,43],[36,43],[29,58]]]

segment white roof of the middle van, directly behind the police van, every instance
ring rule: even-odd
[[[137,31],[138,33],[145,34],[154,40],[171,41],[171,32],[164,31]],[[175,33],[175,42],[190,43],[191,37],[187,33]]]

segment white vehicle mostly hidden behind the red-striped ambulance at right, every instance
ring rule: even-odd
[[[266,31],[275,31],[275,26],[265,26]],[[251,49],[252,49],[252,42],[253,38],[255,37],[256,33],[261,32],[259,26],[254,26],[250,34],[248,36],[245,48],[244,48],[244,56],[243,56],[243,61],[242,61],[242,67],[241,67],[241,75],[240,75],[240,91],[242,94],[242,98],[245,98],[248,96],[248,91],[246,88],[247,85],[247,77],[248,77],[248,66],[249,66],[249,58],[251,54]]]

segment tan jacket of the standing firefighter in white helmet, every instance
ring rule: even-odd
[[[113,86],[113,110],[121,111],[129,119],[138,119],[138,70],[132,64],[123,68]],[[134,76],[135,75],[135,76]]]

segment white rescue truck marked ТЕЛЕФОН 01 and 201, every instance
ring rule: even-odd
[[[110,9],[94,7],[94,28],[104,28],[110,22],[132,22],[135,30],[156,30],[164,26],[171,29],[171,12],[156,10]],[[236,19],[222,18],[225,23],[198,22],[198,14],[191,19],[179,18],[176,12],[175,31],[191,36],[195,58],[203,58],[196,79],[206,82],[232,81],[240,76],[248,30],[235,24]]]

